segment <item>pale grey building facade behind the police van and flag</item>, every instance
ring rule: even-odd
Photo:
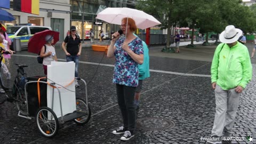
[[[35,26],[51,27],[54,31],[60,32],[60,42],[66,36],[66,30],[70,26],[70,4],[69,0],[40,0],[39,15],[13,11],[11,0],[10,10],[6,10],[14,15],[14,21],[4,21],[6,26],[14,26],[18,23],[31,23]]]

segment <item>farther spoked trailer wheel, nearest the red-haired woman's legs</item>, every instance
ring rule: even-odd
[[[76,98],[76,110],[85,113],[84,116],[74,119],[74,122],[78,125],[83,125],[89,122],[91,118],[91,109],[89,105],[86,105],[85,100]]]

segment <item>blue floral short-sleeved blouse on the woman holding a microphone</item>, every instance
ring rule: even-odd
[[[116,43],[114,52],[116,63],[114,69],[113,83],[136,87],[139,81],[138,63],[135,62],[130,55],[122,49],[125,38],[119,38]],[[143,54],[142,41],[139,37],[133,39],[128,44],[130,49],[136,54]]]

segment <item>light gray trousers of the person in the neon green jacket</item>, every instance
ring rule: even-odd
[[[239,97],[241,93],[237,93],[235,89],[222,90],[219,85],[215,89],[216,111],[212,127],[212,136],[222,137],[224,135],[230,137],[236,118]]]

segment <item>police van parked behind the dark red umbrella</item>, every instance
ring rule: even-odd
[[[43,27],[43,26],[10,26],[7,27],[6,33],[8,34],[9,38],[12,40],[11,49],[13,46],[13,39],[19,38],[21,42],[21,48],[28,47],[28,40],[32,37],[35,33],[40,31],[44,31],[46,29],[52,30],[51,27]]]

